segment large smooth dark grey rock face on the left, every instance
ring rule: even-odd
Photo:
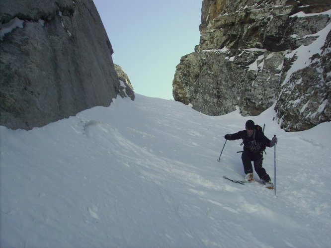
[[[1,0],[0,23],[0,125],[41,127],[123,91],[92,0]]]

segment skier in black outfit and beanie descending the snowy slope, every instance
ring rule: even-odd
[[[265,147],[273,147],[277,143],[277,138],[273,137],[270,141],[261,131],[255,129],[255,124],[252,120],[246,122],[246,130],[239,131],[235,134],[227,134],[224,138],[226,140],[243,139],[244,152],[242,154],[242,161],[246,174],[245,181],[254,181],[251,165],[251,161],[253,161],[254,169],[265,187],[273,189],[273,183],[271,182],[270,176],[262,167],[262,161]]]

